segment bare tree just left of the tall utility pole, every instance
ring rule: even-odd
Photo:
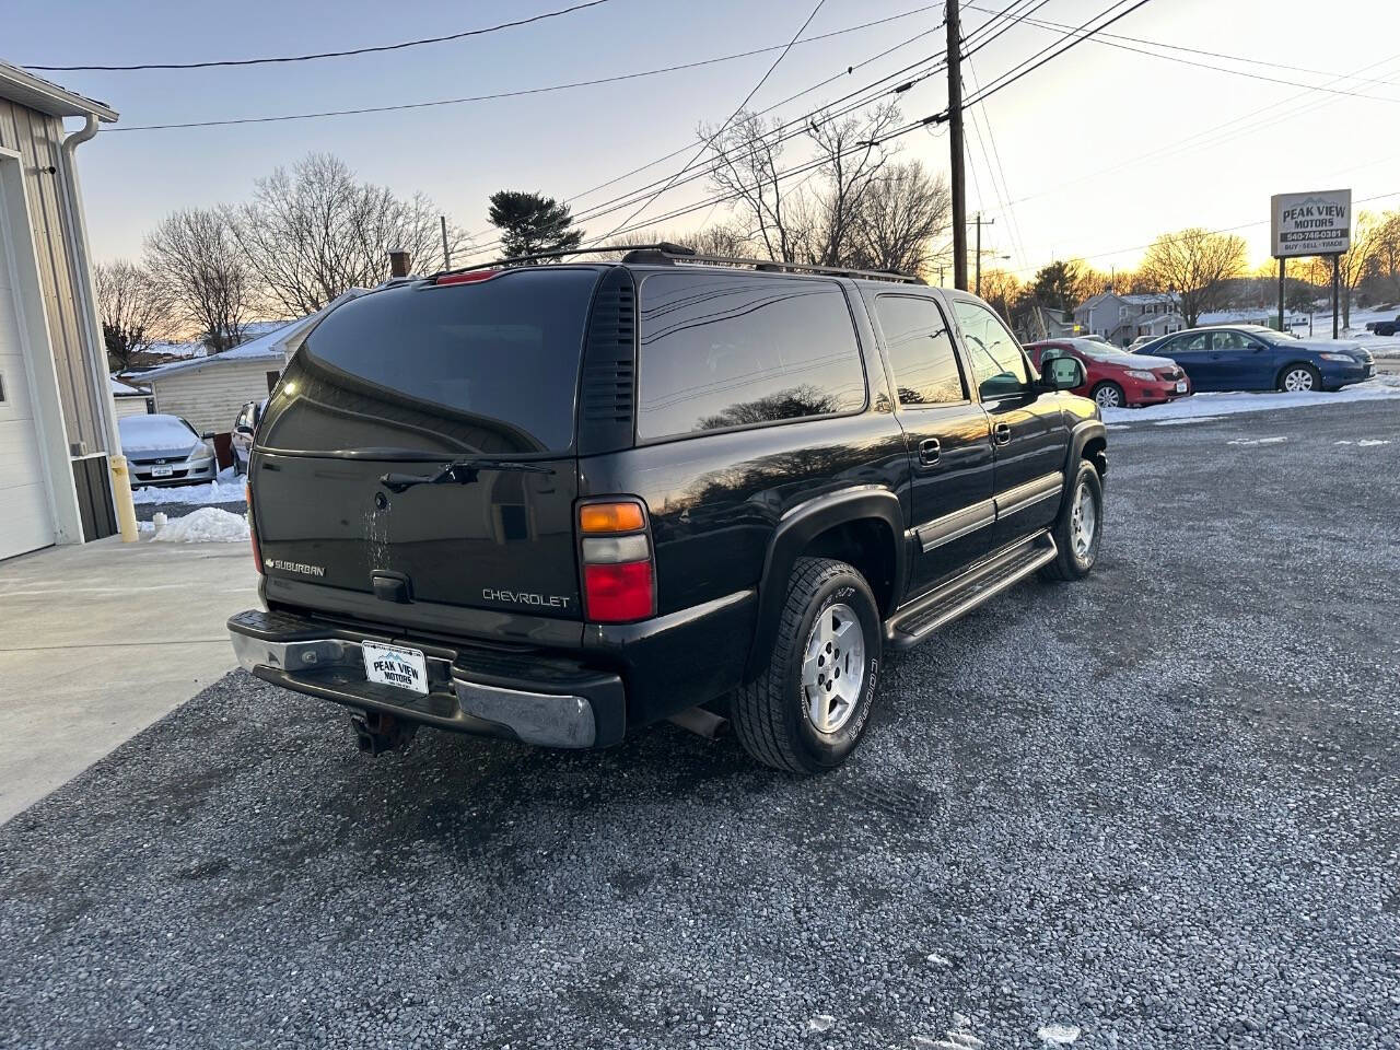
[[[847,262],[868,270],[921,273],[951,214],[952,195],[942,175],[930,176],[918,161],[890,164],[861,200]]]

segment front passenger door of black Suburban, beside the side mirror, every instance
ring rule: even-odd
[[[993,546],[1002,546],[1054,521],[1068,447],[1063,395],[1036,389],[1021,344],[987,304],[949,298],[977,398],[991,417]]]

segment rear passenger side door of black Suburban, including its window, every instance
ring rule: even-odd
[[[893,375],[913,476],[918,543],[910,594],[984,554],[991,545],[991,423],[967,389],[948,318],[931,295],[867,293]]]

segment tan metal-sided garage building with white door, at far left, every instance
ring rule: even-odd
[[[63,118],[84,126],[64,134]],[[0,62],[0,559],[116,532],[74,150],[116,111]]]

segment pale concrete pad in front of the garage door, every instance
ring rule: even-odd
[[[48,547],[0,561],[0,822],[235,666],[245,543]]]

